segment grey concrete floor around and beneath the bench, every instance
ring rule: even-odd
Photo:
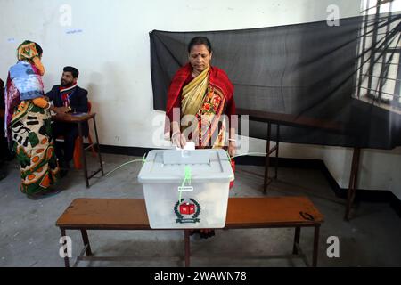
[[[105,172],[133,157],[104,154]],[[138,158],[141,159],[141,158]],[[95,161],[92,161],[94,166]],[[44,199],[28,199],[19,191],[19,167],[14,160],[0,181],[0,266],[63,266],[59,256],[60,231],[55,221],[76,198],[143,198],[136,176],[140,163],[129,164],[107,177],[91,180],[86,190],[83,174],[71,170],[61,182],[59,194]],[[263,167],[237,166],[230,196],[259,197]],[[319,170],[280,168],[278,180],[271,183],[269,196],[307,196],[325,217],[319,244],[319,266],[401,266],[401,226],[388,204],[360,203],[354,218],[344,222],[345,201],[335,197]],[[68,231],[73,240],[73,256],[82,241],[78,231]],[[329,258],[326,242],[340,239],[340,257]],[[81,262],[79,266],[182,266],[183,261],[165,256],[183,256],[181,231],[89,231],[94,255],[150,256],[135,261]],[[293,229],[217,230],[208,240],[192,237],[192,266],[305,266],[290,255]],[[313,229],[301,231],[300,245],[307,258],[312,254]],[[213,253],[213,257],[208,256]],[[232,257],[233,254],[253,257]],[[268,255],[268,257],[266,257]],[[163,257],[164,256],[164,257]],[[262,257],[263,256],[263,257]]]

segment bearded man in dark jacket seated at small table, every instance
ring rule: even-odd
[[[54,85],[52,90],[46,94],[55,107],[67,108],[70,112],[88,111],[87,91],[78,86],[79,71],[76,68],[67,66],[63,69],[61,85]],[[56,139],[60,135],[64,137],[64,147],[61,142],[55,143],[56,156],[59,159],[61,175],[66,175],[70,168],[70,160],[74,153],[74,142],[78,137],[77,124],[53,122],[53,137]],[[88,134],[87,124],[83,125],[83,133]]]

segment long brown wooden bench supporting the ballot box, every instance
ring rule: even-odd
[[[323,215],[306,197],[230,198],[225,229],[293,227],[292,254],[299,255],[302,252],[299,248],[301,227],[315,227],[312,265],[316,266],[321,223]],[[151,230],[144,199],[75,199],[56,225],[61,229],[61,237],[66,236],[66,230],[81,231],[84,248],[75,266],[80,260],[102,260],[102,256],[93,256],[87,230]],[[185,266],[189,266],[190,230],[182,231]],[[64,263],[70,267],[68,256]]]

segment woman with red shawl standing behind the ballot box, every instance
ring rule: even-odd
[[[197,149],[223,148],[233,157],[235,126],[227,128],[235,115],[233,84],[224,70],[210,66],[212,55],[208,38],[192,38],[189,63],[176,72],[168,89],[165,134],[180,148],[192,141]],[[214,231],[201,230],[202,238],[213,235]]]

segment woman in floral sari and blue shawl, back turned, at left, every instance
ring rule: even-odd
[[[4,96],[5,133],[20,162],[20,191],[29,198],[49,192],[59,173],[49,112],[58,110],[44,97],[42,53],[30,41],[18,47],[18,62],[9,70]]]

